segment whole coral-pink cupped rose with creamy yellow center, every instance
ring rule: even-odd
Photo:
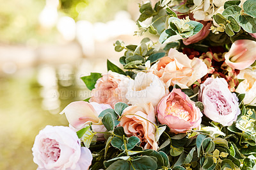
[[[159,122],[168,125],[174,133],[182,133],[198,127],[202,116],[195,102],[190,100],[181,89],[173,89],[157,107]]]

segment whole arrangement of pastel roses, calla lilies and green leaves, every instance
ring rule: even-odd
[[[69,127],[47,126],[38,169],[256,169],[256,1],[140,4],[123,68],[81,77]]]

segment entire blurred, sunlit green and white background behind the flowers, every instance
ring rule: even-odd
[[[139,0],[0,0],[0,169],[36,169],[31,148],[58,114],[90,97],[79,77],[118,64],[134,37]]]

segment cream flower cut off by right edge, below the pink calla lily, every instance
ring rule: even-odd
[[[241,70],[238,79],[244,79],[237,86],[237,93],[245,93],[244,104],[256,103],[256,72],[252,68]]]

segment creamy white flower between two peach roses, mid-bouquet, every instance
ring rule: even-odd
[[[134,84],[128,87],[126,98],[128,104],[140,105],[152,103],[154,107],[165,95],[164,82],[152,73],[139,72]]]

